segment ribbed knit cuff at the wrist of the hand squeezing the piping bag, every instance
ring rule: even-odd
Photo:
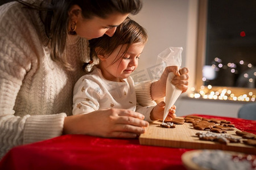
[[[151,81],[135,84],[137,102],[144,107],[156,105],[151,97],[151,84]]]

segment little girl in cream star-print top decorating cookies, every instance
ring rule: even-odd
[[[89,113],[98,109],[122,108],[142,113],[146,121],[162,120],[164,103],[151,107],[137,104],[134,82],[130,74],[138,66],[146,30],[127,18],[112,37],[103,36],[90,40],[90,58],[100,59],[92,72],[82,76],[74,88],[73,114]],[[86,63],[87,66],[88,63]],[[88,68],[85,68],[88,71]],[[175,106],[167,120],[175,117]]]

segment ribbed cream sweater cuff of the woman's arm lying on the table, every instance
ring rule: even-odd
[[[28,117],[24,127],[23,144],[60,136],[66,116],[65,113],[60,113]]]

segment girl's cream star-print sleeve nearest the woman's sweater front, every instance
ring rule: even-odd
[[[73,115],[90,113],[100,108],[98,102],[101,98],[102,90],[97,83],[88,78],[80,78],[74,87]]]

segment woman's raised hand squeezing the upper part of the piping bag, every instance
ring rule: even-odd
[[[164,69],[160,79],[151,84],[151,97],[153,100],[162,99],[166,96],[166,80],[170,72],[175,74],[174,79],[172,79],[172,83],[182,90],[182,92],[187,91],[189,78],[188,69],[184,67],[178,70],[177,66],[168,66]]]

